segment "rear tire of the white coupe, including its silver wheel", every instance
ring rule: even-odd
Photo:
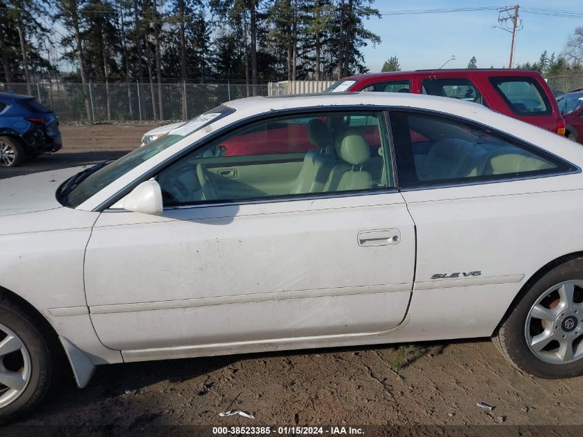
[[[561,259],[549,267],[526,284],[495,331],[493,342],[515,367],[532,376],[581,376],[583,258]]]

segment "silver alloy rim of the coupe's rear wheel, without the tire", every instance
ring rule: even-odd
[[[526,316],[528,348],[544,362],[567,364],[583,358],[583,280],[546,290]]]

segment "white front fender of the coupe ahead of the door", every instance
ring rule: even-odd
[[[58,207],[0,217],[0,285],[34,307],[95,365],[122,361],[119,351],[97,338],[85,298],[85,248],[98,216]]]

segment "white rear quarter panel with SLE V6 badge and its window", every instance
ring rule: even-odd
[[[569,192],[578,169],[460,119],[401,111],[391,126],[417,227],[406,336],[490,336],[524,282],[569,253],[551,242],[580,229]]]

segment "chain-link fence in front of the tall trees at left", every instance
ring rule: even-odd
[[[183,98],[186,102],[184,119],[191,119],[225,101],[247,97],[245,84],[88,84],[86,88],[95,122],[182,120]],[[257,95],[267,95],[266,84],[258,84],[256,88]],[[37,97],[42,104],[52,108],[63,122],[88,121],[83,84],[61,81],[0,84],[0,91]]]

